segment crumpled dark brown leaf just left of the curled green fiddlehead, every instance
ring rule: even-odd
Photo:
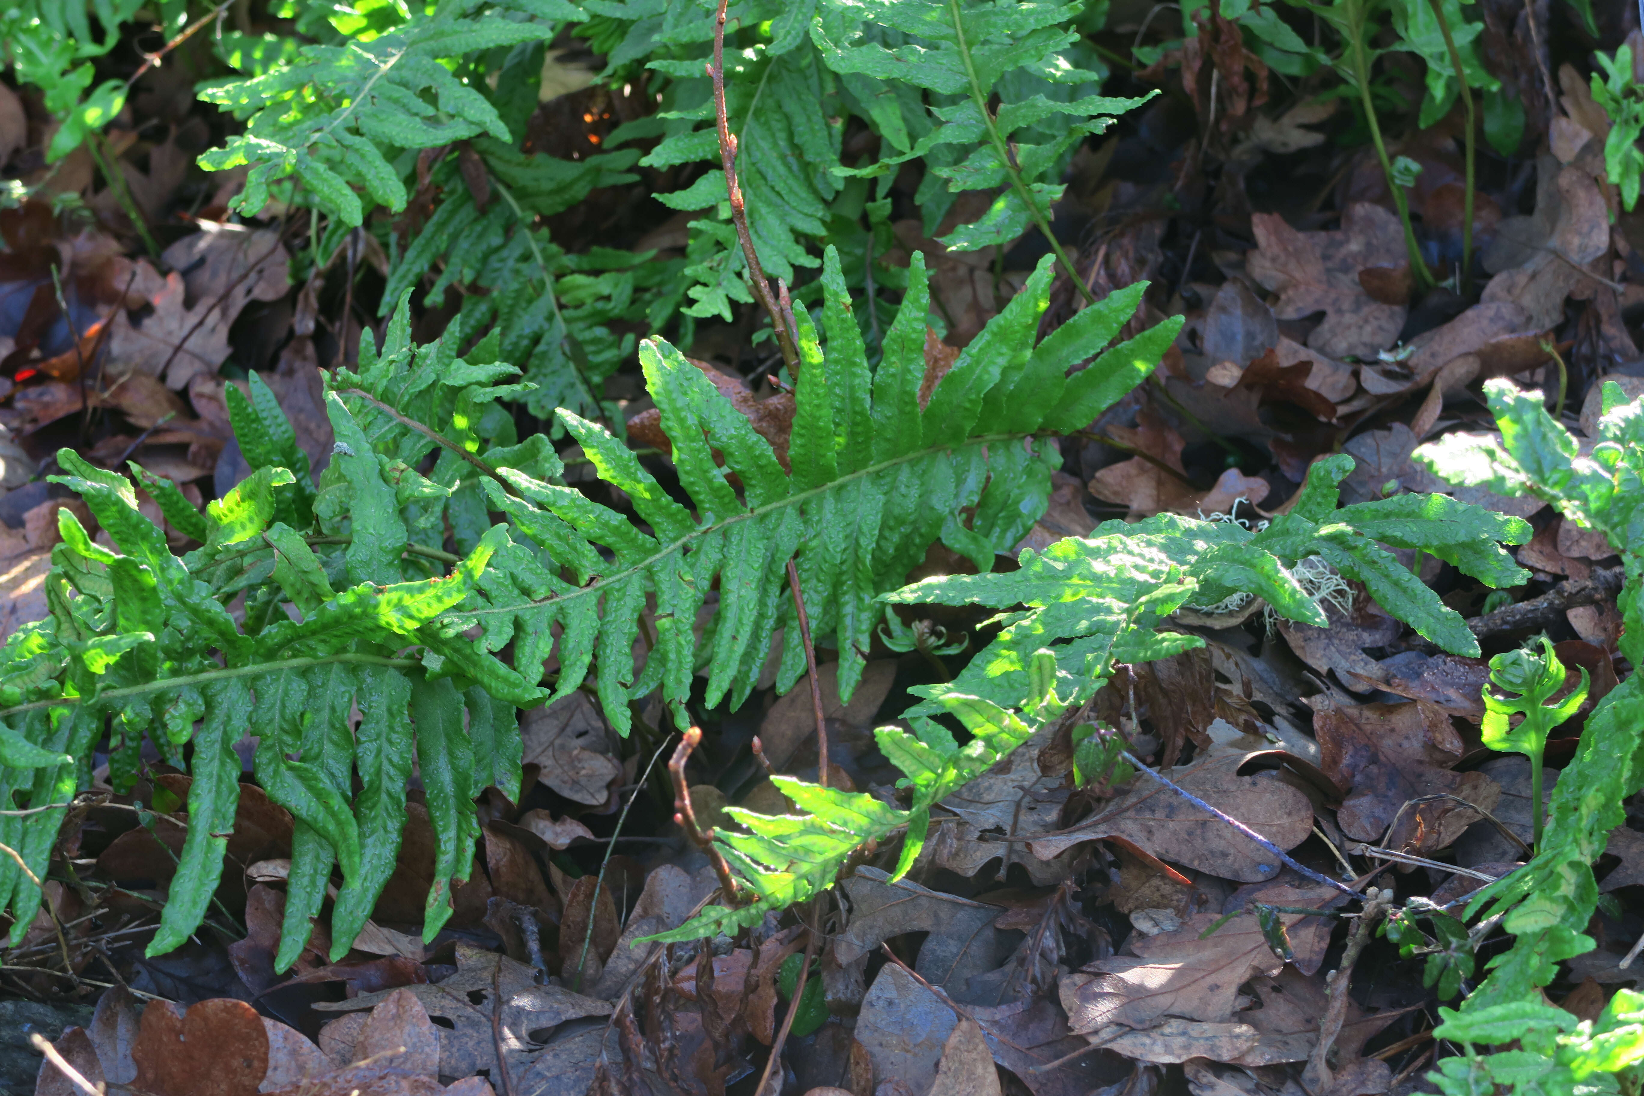
[[[1438,705],[1412,700],[1338,707],[1327,695],[1310,700],[1317,705],[1318,767],[1346,792],[1337,825],[1350,838],[1378,841],[1386,835],[1391,848],[1440,850],[1480,820],[1466,804],[1494,810],[1501,800],[1501,785],[1483,772],[1452,772],[1465,748]],[[1443,799],[1406,808],[1414,799],[1437,794],[1466,804]],[[1389,833],[1394,820],[1397,827]]]

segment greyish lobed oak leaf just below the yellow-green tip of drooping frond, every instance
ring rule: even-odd
[[[929,932],[919,946],[914,971],[931,984],[960,994],[967,979],[998,968],[1009,956],[1006,940],[993,927],[1000,907],[929,891],[909,879],[886,879],[889,874],[878,868],[858,868],[840,884],[850,899],[850,922],[834,938],[834,956],[842,966],[891,937]]]

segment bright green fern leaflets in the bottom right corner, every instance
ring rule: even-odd
[[[1542,1096],[1619,1093],[1637,1096],[1644,1073],[1644,994],[1618,989],[1596,1020],[1577,1020],[1542,1001],[1485,1009],[1440,1007],[1434,1038],[1465,1050],[1427,1075],[1445,1096]],[[1517,1040],[1516,1050],[1478,1053]]]

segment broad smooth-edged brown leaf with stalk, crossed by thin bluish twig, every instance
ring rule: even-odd
[[[1167,776],[1289,851],[1312,833],[1314,808],[1307,795],[1277,772],[1238,774],[1263,753],[1277,756],[1276,751],[1217,751]],[[1282,866],[1277,856],[1148,776],[1138,776],[1128,792],[1093,818],[1037,838],[1028,848],[1039,859],[1051,859],[1080,841],[1101,838],[1120,838],[1159,859],[1240,882],[1272,879]]]

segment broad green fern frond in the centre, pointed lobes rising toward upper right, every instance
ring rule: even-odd
[[[538,477],[505,472],[506,485],[483,481],[490,506],[506,513],[531,547],[503,552],[447,631],[478,624],[488,651],[511,642],[515,665],[529,677],[549,657],[557,624],[556,695],[577,688],[593,662],[600,703],[626,733],[631,698],[661,685],[669,705],[682,705],[702,662],[712,665],[705,703],[730,697],[740,705],[748,697],[778,629],[796,634],[784,569],[797,557],[812,631],[834,638],[840,693],[850,697],[880,618],[873,598],[894,588],[937,539],[991,569],[995,554],[1014,546],[1046,504],[1055,449],[1042,435],[1090,422],[1129,391],[1180,322],[1161,324],[1067,376],[1131,315],[1141,288],[1113,294],[1034,347],[1051,286],[1051,266],[1041,263],[921,409],[929,307],[922,261],[916,256],[876,371],[832,250],[822,286],[825,355],[809,314],[796,312],[804,365],[792,473],[697,366],[666,342],[648,340],[640,358],[695,513],[669,498],[603,427],[561,411],[598,475],[626,493],[649,531]],[[740,477],[741,495],[728,473]],[[718,606],[699,651],[692,624],[715,582]],[[633,646],[648,595],[656,600],[656,642],[635,677],[620,652]],[[804,669],[801,646],[784,642],[778,690]]]

